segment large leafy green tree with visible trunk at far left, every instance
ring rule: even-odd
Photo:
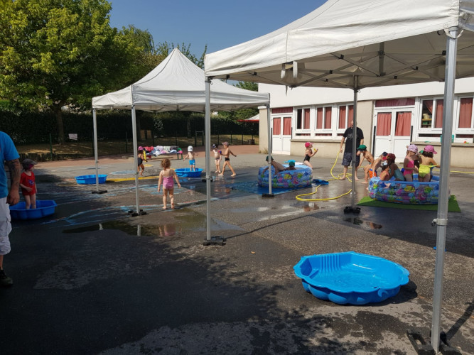
[[[64,139],[61,109],[126,82],[143,48],[109,26],[106,0],[0,0],[0,97],[50,109]]]

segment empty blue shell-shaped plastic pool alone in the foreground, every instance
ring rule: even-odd
[[[354,251],[302,256],[293,269],[308,293],[340,305],[382,302],[409,281],[403,266]]]

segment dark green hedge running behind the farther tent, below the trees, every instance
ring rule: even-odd
[[[152,131],[157,137],[190,136],[195,131],[204,131],[204,114],[193,112],[153,112],[137,111],[137,128]],[[68,133],[77,133],[80,141],[92,141],[92,113],[63,111],[65,138]],[[0,130],[9,133],[17,144],[58,142],[56,118],[52,112],[16,112],[0,107]],[[258,124],[240,123],[221,116],[213,116],[211,134],[255,134]],[[131,133],[130,111],[97,111],[97,138],[99,140],[124,139]]]

